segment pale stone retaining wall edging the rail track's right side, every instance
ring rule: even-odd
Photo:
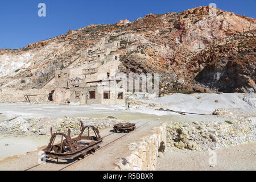
[[[159,148],[165,148],[164,146],[166,146],[166,123],[152,129],[138,142],[129,143],[131,154],[125,157],[127,163],[123,163],[123,159],[119,160],[115,163],[117,167],[114,170],[155,170]]]

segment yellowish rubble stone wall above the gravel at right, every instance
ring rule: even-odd
[[[239,118],[225,122],[167,123],[167,146],[188,150],[216,150],[256,142],[256,123]]]

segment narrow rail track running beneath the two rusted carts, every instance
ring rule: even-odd
[[[142,122],[142,121],[139,121],[139,122],[135,123],[135,125],[137,125],[137,124],[140,123],[140,122]],[[144,126],[144,125],[146,125],[146,124],[147,124],[147,122],[146,122],[146,123],[143,123],[143,125],[138,126],[136,130],[138,130],[140,127],[142,127],[142,126]],[[106,135],[106,136],[104,136],[104,137],[102,137],[102,138],[106,138],[106,137],[109,137],[110,135],[114,135],[114,134],[115,134],[115,135],[118,135],[118,134],[120,134],[120,133],[118,133],[118,134],[117,134],[117,133],[111,133],[111,134],[108,134],[108,135]],[[121,136],[121,137],[118,137],[117,139],[114,139],[114,140],[112,140],[111,142],[104,144],[103,146],[101,146],[100,148],[98,148],[95,152],[97,152],[98,150],[102,150],[102,148],[104,148],[104,147],[106,147],[106,146],[109,146],[109,144],[114,143],[115,141],[117,141],[117,140],[119,140],[119,139],[125,137],[125,136],[128,135],[128,134],[131,134],[131,133],[125,133],[125,134],[122,133],[122,136]],[[88,157],[88,156],[90,156],[90,154],[85,155],[84,158],[86,158],[86,157]],[[84,159],[84,158],[83,158],[83,159]],[[40,163],[40,164],[36,164],[35,166],[32,166],[32,167],[27,168],[27,169],[24,169],[24,171],[30,171],[31,169],[36,169],[36,167],[42,166],[43,164],[51,164],[51,163],[48,163],[48,162],[51,162],[51,161],[53,161],[53,160],[55,160],[55,159],[47,159],[45,162],[42,162],[42,163]],[[71,162],[71,163],[65,165],[64,167],[58,169],[57,171],[62,171],[63,169],[68,168],[69,166],[72,166],[73,164],[75,164],[75,163],[77,163],[77,162],[79,162],[79,161],[80,161],[80,160],[74,160],[73,162]]]

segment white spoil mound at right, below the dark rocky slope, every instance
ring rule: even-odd
[[[250,101],[244,100],[245,96],[250,96]],[[224,93],[224,94],[172,94],[170,96],[149,100],[147,103],[160,105],[164,109],[184,111],[189,113],[212,114],[219,108],[231,109],[235,113],[253,115],[256,117],[256,93]],[[156,115],[179,115],[167,111],[155,110],[147,104],[131,107],[131,111],[137,113],[147,113]],[[159,108],[158,108],[159,109]]]

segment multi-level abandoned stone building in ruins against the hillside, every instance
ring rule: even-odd
[[[82,51],[83,64],[78,68],[55,73],[53,101],[80,104],[124,105],[126,90],[117,87],[115,75],[120,64],[119,55],[112,54],[119,42],[106,43]]]

